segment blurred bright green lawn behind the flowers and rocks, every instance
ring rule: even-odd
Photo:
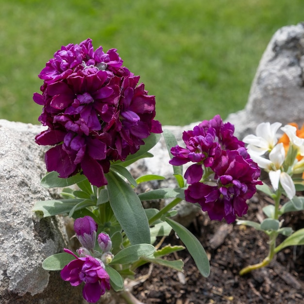
[[[185,125],[244,108],[259,60],[303,0],[0,0],[0,118],[38,123],[37,75],[62,45],[93,39],[156,95],[156,118]]]

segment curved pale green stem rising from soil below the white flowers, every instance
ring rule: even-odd
[[[274,197],[274,215],[273,215],[274,220],[279,220],[279,206],[280,206],[281,194],[282,194],[282,192],[280,190],[277,190],[276,195]],[[276,231],[272,231],[269,234],[270,240],[269,240],[268,256],[260,263],[244,267],[243,269],[241,269],[239,271],[239,275],[244,275],[252,270],[256,270],[256,269],[265,267],[272,261],[274,254],[275,254],[275,245],[276,245],[275,242],[276,242],[277,236],[278,236],[278,233]]]

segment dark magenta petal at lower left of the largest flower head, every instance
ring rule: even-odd
[[[76,165],[71,161],[67,152],[62,149],[62,145],[51,148],[45,153],[45,162],[48,172],[57,171],[59,177],[67,178],[71,175]]]

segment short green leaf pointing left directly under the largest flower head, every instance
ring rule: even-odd
[[[86,179],[85,175],[80,173],[68,178],[60,178],[58,177],[58,173],[56,171],[52,171],[47,173],[41,179],[41,185],[45,188],[67,187],[77,184],[85,179]]]

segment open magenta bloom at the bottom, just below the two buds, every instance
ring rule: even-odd
[[[61,270],[61,278],[69,281],[72,286],[84,282],[84,299],[89,303],[97,302],[106,289],[110,290],[110,277],[105,271],[103,262],[90,255],[78,257],[68,249],[64,251],[72,254],[75,260]]]

